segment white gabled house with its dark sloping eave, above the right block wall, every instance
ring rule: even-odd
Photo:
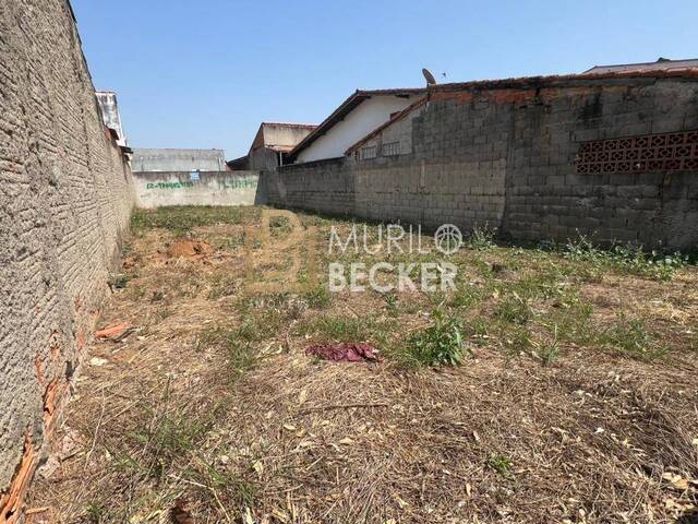
[[[425,88],[357,91],[288,155],[296,163],[337,158],[396,114],[423,98]]]

